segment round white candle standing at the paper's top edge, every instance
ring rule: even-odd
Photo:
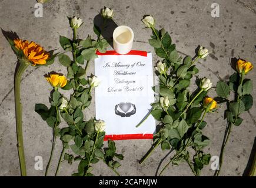
[[[126,25],[120,25],[113,32],[114,50],[119,54],[126,54],[132,49],[134,32]]]

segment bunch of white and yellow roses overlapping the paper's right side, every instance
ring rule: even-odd
[[[202,135],[202,129],[207,124],[204,118],[207,112],[214,112],[217,103],[214,99],[207,97],[207,92],[212,87],[208,78],[198,79],[198,89],[192,94],[189,93],[188,86],[193,75],[198,73],[195,63],[198,59],[203,59],[208,55],[206,48],[200,47],[194,59],[187,56],[182,59],[175,44],[172,43],[171,36],[165,29],[159,31],[155,28],[155,19],[151,16],[144,16],[142,19],[147,28],[151,28],[152,36],[149,44],[155,48],[155,53],[162,58],[157,63],[155,69],[159,76],[160,98],[151,104],[151,114],[158,120],[160,129],[154,135],[154,143],[148,153],[142,157],[139,163],[144,163],[151,153],[159,145],[162,150],[175,150],[175,155],[171,157],[165,165],[161,175],[169,164],[179,164],[187,162],[195,176],[200,175],[204,165],[210,162],[211,155],[205,154],[202,149],[210,143],[207,136]],[[142,126],[142,120],[138,126]],[[190,157],[188,147],[191,147],[195,155]]]

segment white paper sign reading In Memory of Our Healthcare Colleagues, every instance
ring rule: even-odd
[[[101,80],[95,88],[96,118],[106,122],[106,135],[112,139],[152,138],[155,119],[151,115],[135,127],[154,102],[151,53],[98,55],[95,75]]]

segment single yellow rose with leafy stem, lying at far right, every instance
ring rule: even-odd
[[[245,75],[252,70],[253,65],[251,62],[247,62],[244,59],[237,59],[235,63],[237,72],[230,76],[228,82],[219,81],[216,86],[216,92],[218,96],[220,96],[221,102],[225,102],[228,108],[225,110],[227,129],[221,146],[220,164],[214,176],[218,176],[221,172],[221,167],[224,162],[225,147],[230,137],[232,127],[241,125],[243,119],[240,115],[249,110],[253,103],[251,96],[252,80],[245,79]],[[233,100],[230,100],[231,91],[235,94]]]

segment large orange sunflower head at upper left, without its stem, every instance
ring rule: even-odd
[[[15,47],[21,50],[26,59],[32,62],[32,66],[44,65],[49,58],[49,53],[35,42],[22,41],[21,39],[14,39]]]

